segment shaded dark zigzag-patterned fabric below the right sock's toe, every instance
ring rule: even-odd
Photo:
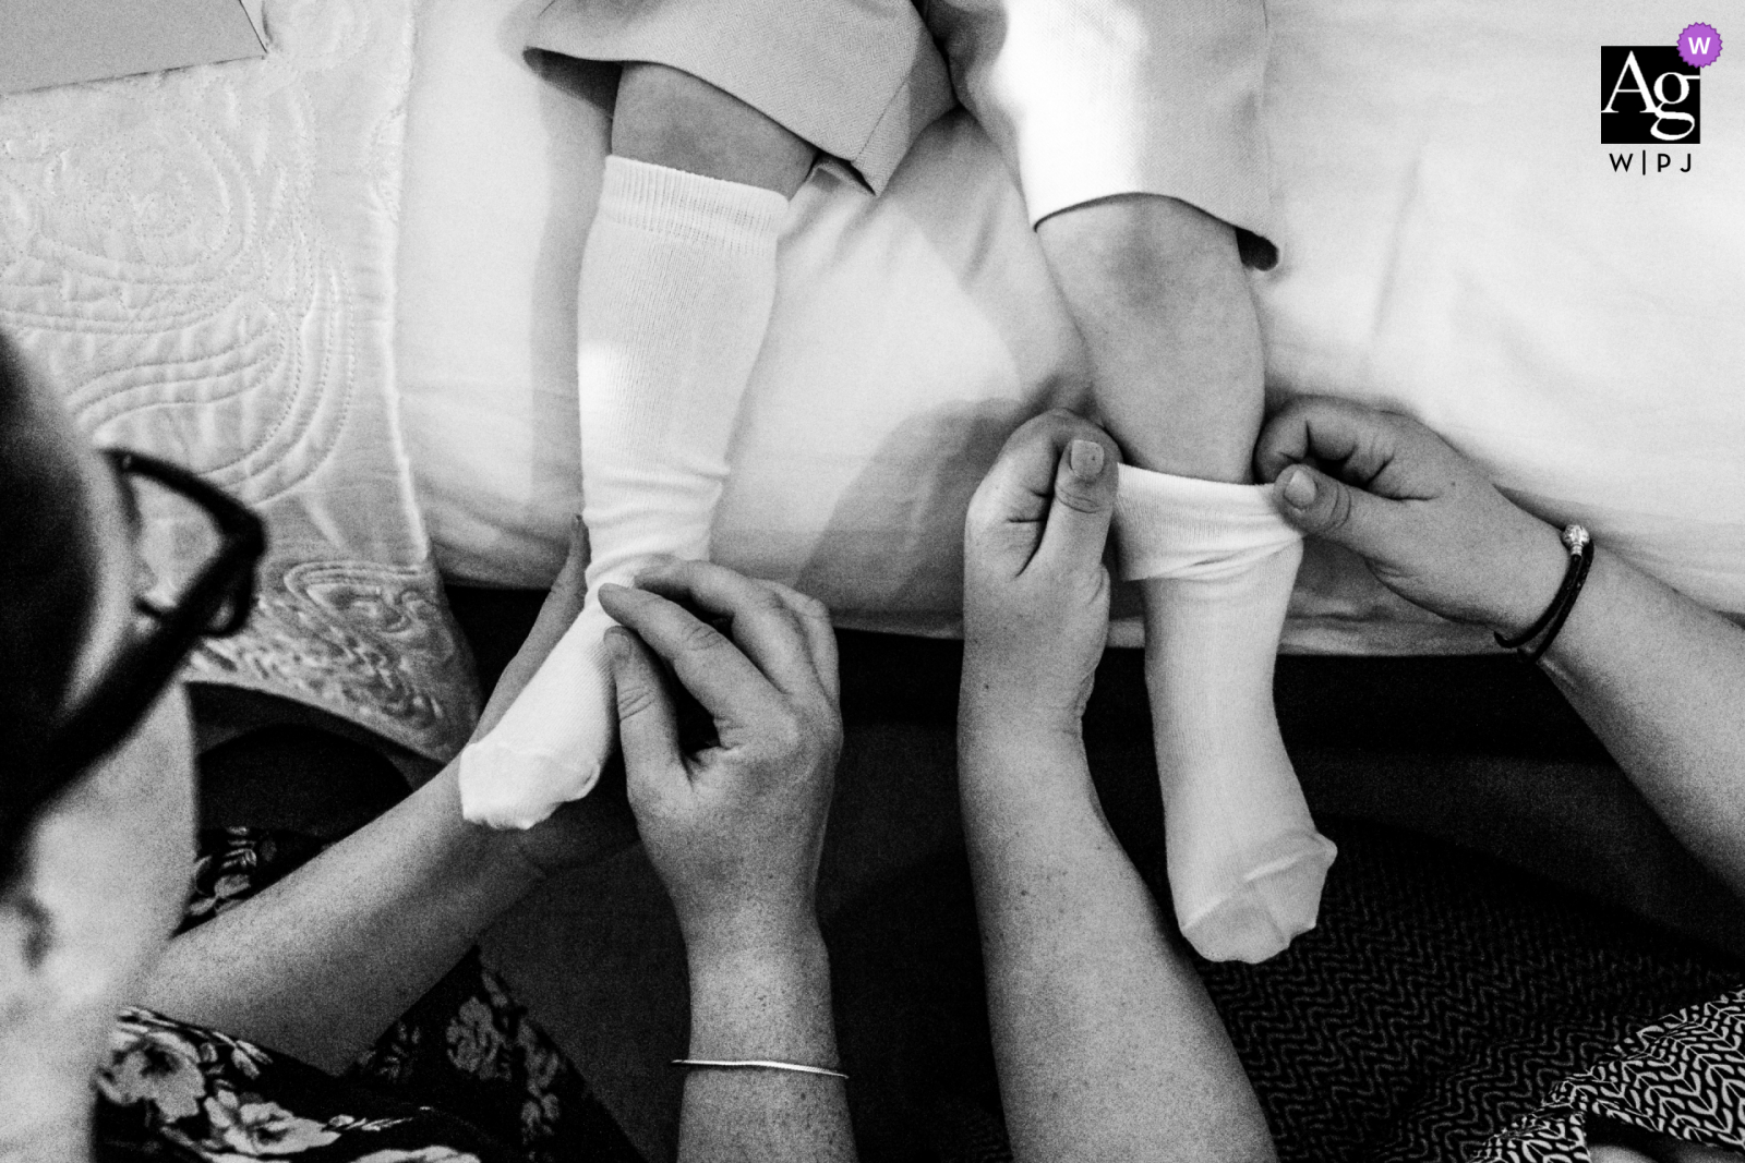
[[[1330,825],[1321,924],[1204,966],[1281,1163],[1461,1160],[1740,966],[1469,853]]]

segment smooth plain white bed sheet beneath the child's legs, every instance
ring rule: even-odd
[[[408,110],[401,408],[438,561],[475,584],[550,582],[578,507],[574,284],[612,75],[525,59],[541,7],[431,0]],[[1619,0],[1276,0],[1284,262],[1255,291],[1272,391],[1410,411],[1529,507],[1740,614],[1745,65],[1705,71],[1691,173],[1614,174],[1598,143],[1600,45],[1670,44],[1684,17]],[[717,558],[845,624],[953,633],[974,483],[1024,417],[1084,399],[1017,192],[958,113],[881,199],[820,167],[780,262]],[[1131,621],[1115,640],[1136,640]],[[1323,547],[1286,645],[1487,636]]]

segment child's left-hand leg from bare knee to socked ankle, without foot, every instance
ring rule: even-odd
[[[590,593],[654,554],[708,556],[777,235],[811,157],[708,82],[625,66],[578,291]]]

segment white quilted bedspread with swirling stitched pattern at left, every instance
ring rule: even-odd
[[[433,758],[469,666],[393,403],[414,0],[267,0],[269,54],[0,98],[0,328],[99,443],[267,518],[258,609],[194,680]]]

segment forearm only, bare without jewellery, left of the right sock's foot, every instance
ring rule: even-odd
[[[1272,1158],[1181,945],[1103,820],[1084,746],[960,724],[963,828],[1019,1160]]]

